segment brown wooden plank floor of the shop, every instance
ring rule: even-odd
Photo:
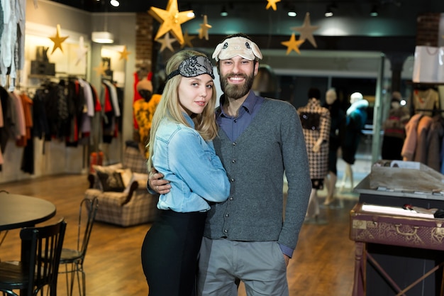
[[[78,206],[87,186],[85,175],[59,175],[1,184],[0,189],[53,202],[57,207],[53,219],[63,216],[67,221],[65,246],[75,248]],[[326,224],[304,224],[288,268],[290,295],[351,295],[355,248],[348,239],[348,214],[356,200],[343,199],[343,207],[321,209],[321,219]],[[148,295],[140,246],[149,228],[150,224],[122,228],[96,222],[84,263],[87,295]],[[7,234],[0,246],[1,260],[19,258],[18,232]],[[78,295],[77,290],[74,292]],[[63,276],[59,277],[57,295],[67,295]],[[245,295],[242,286],[239,295]]]

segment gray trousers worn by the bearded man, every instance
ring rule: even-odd
[[[199,254],[197,295],[238,295],[239,280],[248,296],[288,296],[287,266],[279,244],[204,237]]]

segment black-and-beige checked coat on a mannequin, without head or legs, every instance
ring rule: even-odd
[[[311,179],[323,179],[328,172],[328,138],[330,133],[330,111],[321,106],[318,99],[309,99],[308,104],[298,109],[302,122]],[[322,138],[321,149],[313,152],[313,146]]]

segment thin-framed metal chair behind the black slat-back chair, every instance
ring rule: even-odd
[[[83,262],[85,255],[87,254],[89,237],[91,236],[91,230],[96,218],[98,207],[99,200],[96,197],[94,199],[85,198],[82,200],[82,202],[80,202],[79,224],[77,228],[77,249],[62,249],[62,255],[60,256],[60,265],[65,265],[65,271],[59,271],[59,273],[66,274],[67,295],[72,295],[74,278],[76,277],[79,287],[79,295],[87,295],[86,276],[83,270]],[[87,216],[85,220],[86,214]],[[79,273],[82,273],[82,285],[80,284]],[[71,279],[69,277],[69,274],[71,275]]]

